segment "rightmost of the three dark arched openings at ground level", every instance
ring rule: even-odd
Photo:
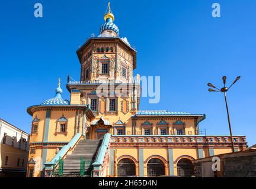
[[[194,165],[187,158],[182,158],[178,161],[177,170],[179,177],[191,177],[194,175]]]

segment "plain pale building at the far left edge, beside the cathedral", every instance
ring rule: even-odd
[[[30,136],[0,119],[0,177],[25,177]]]

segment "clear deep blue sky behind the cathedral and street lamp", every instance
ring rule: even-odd
[[[43,18],[34,4],[43,4]],[[212,4],[221,18],[212,17]],[[30,132],[28,106],[54,96],[57,79],[79,80],[75,51],[104,23],[107,1],[0,2],[0,118]],[[137,50],[135,73],[161,76],[161,101],[141,109],[206,113],[207,134],[229,134],[225,101],[207,92],[207,82],[222,86],[241,80],[228,92],[233,134],[255,140],[255,0],[111,1],[115,24]]]

